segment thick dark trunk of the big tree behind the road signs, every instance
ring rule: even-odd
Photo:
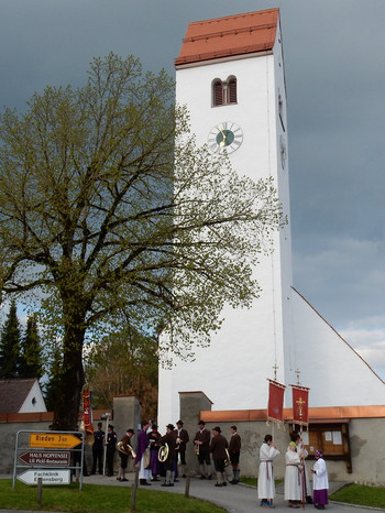
[[[81,326],[76,323],[76,326]],[[59,376],[58,400],[53,426],[56,430],[72,430],[78,424],[80,394],[85,383],[82,369],[84,328],[67,327],[64,337],[63,370]]]

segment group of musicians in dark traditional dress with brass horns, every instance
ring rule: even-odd
[[[164,435],[161,435],[157,425],[152,419],[142,422],[135,449],[131,444],[134,434],[132,428],[127,429],[125,435],[118,443],[113,426],[111,424],[108,426],[106,435],[102,424],[99,422],[98,428],[94,432],[91,474],[97,473],[97,471],[102,474],[106,463],[107,476],[113,476],[114,454],[118,448],[120,458],[118,481],[128,481],[127,468],[130,456],[139,470],[141,485],[151,485],[151,482],[161,481],[161,478],[164,477],[162,487],[173,487],[178,477],[186,478],[186,448],[190,438],[182,419],[176,423],[176,426],[167,424]],[[237,433],[237,426],[231,426],[228,441],[219,426],[216,426],[210,434],[206,428],[206,423],[199,421],[193,443],[198,459],[200,479],[211,479],[212,459],[217,476],[216,487],[226,487],[228,482],[231,484],[239,482],[241,437]],[[231,465],[232,468],[230,480],[224,471],[228,465]],[[87,470],[85,476],[87,476]]]

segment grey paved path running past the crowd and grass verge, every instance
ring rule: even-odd
[[[10,476],[0,476],[1,478],[10,478]],[[108,478],[107,476],[90,476],[84,478],[84,483],[92,483],[92,484],[109,484],[116,487],[131,487],[134,480],[134,474],[130,473],[128,482],[119,482],[117,481],[116,477]],[[147,490],[158,490],[164,492],[172,492],[172,493],[185,493],[186,480],[179,479],[179,482],[175,483],[174,487],[165,488],[161,487],[163,482],[153,482],[151,487],[146,487]],[[197,499],[202,499],[205,501],[212,502],[224,507],[230,513],[256,513],[267,511],[266,507],[260,506],[260,501],[256,494],[256,488],[246,487],[244,484],[228,484],[223,488],[215,487],[215,480],[200,480],[196,478],[191,478],[190,480],[190,489],[189,495],[195,496]],[[330,483],[330,491],[336,491],[341,488],[343,483]],[[292,512],[293,509],[287,506],[286,501],[284,500],[284,491],[283,485],[277,487],[277,494],[275,498],[275,510],[279,510],[282,512]],[[316,512],[312,505],[307,504],[305,510],[308,512]],[[0,512],[6,512],[9,510],[0,510]],[[14,511],[14,510],[13,510]],[[302,511],[301,509],[298,512]],[[375,512],[375,511],[384,511],[377,510],[373,507],[362,507],[362,506],[352,506],[349,504],[341,504],[337,502],[331,502],[326,509],[326,512],[332,513],[340,513],[340,512],[349,512],[349,513],[360,513],[360,512]],[[20,513],[33,513],[33,512],[20,512]]]

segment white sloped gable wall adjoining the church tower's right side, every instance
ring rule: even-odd
[[[296,291],[292,294],[293,358],[310,388],[310,405],[383,405],[385,384]]]

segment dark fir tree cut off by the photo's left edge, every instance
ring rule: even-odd
[[[0,338],[0,379],[19,376],[20,367],[20,323],[16,304],[12,301]]]

